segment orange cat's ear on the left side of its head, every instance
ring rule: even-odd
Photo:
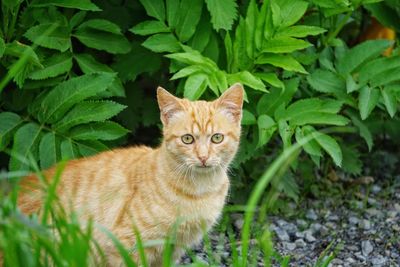
[[[160,118],[164,125],[173,118],[177,113],[183,111],[180,99],[170,94],[162,87],[157,88],[157,101],[160,107]]]

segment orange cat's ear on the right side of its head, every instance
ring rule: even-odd
[[[242,119],[244,89],[240,83],[235,83],[226,90],[218,99],[218,108],[232,117],[235,122]]]

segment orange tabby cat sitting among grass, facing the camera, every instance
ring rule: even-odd
[[[135,245],[132,225],[144,241],[162,240],[178,221],[178,259],[221,214],[228,165],[239,145],[243,88],[235,84],[215,101],[191,102],[159,87],[157,98],[164,125],[160,147],[115,149],[70,161],[57,193],[83,221],[93,218],[129,248]],[[49,179],[54,172],[45,175]],[[30,176],[21,184],[27,190],[19,206],[26,213],[40,207],[38,190],[31,187],[35,181]],[[98,230],[95,237],[106,250],[108,265],[118,266],[121,259],[111,241]],[[162,265],[162,250],[162,245],[146,248],[150,266]]]

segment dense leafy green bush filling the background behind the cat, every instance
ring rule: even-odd
[[[400,17],[398,1],[374,2],[2,1],[1,167],[27,170],[32,157],[44,169],[157,144],[157,85],[196,100],[241,82],[235,190],[250,190],[279,151],[308,134],[315,139],[270,190],[297,199],[294,174],[310,162],[359,174],[373,134],[386,129],[398,141],[400,132],[399,50],[390,40],[354,44],[366,10],[399,30],[387,16]]]

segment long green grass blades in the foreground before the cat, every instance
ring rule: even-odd
[[[308,138],[310,140],[311,137]],[[296,158],[301,145],[295,144],[285,150],[266,170],[253,189],[246,206],[227,206],[223,214],[218,232],[222,235],[227,233],[229,238],[230,255],[229,265],[234,267],[257,266],[260,258],[264,266],[289,266],[290,257],[282,256],[273,248],[272,235],[268,230],[265,218],[266,207],[269,203],[260,201],[265,188],[272,178],[281,176],[290,163]],[[40,170],[34,161],[31,165],[36,173]],[[57,199],[56,187],[59,182],[64,164],[61,163],[51,183],[44,179],[43,184],[44,201],[42,216],[30,216],[22,214],[16,206],[18,187],[12,186],[10,194],[3,194],[0,198],[0,250],[2,251],[5,266],[98,266],[104,262],[105,254],[93,238],[95,224],[89,221],[85,226],[80,225],[76,214],[67,214]],[[21,173],[3,173],[0,179],[6,177],[18,177]],[[9,181],[13,181],[9,179]],[[15,184],[15,183],[14,183]],[[261,203],[260,203],[261,202]],[[232,228],[231,212],[242,211],[244,213],[244,224],[241,235],[236,235]],[[257,212],[256,212],[257,211]],[[257,222],[258,223],[254,223]],[[138,245],[135,248],[127,248],[107,229],[100,228],[114,246],[117,248],[124,266],[138,266],[130,254],[137,250],[142,265],[147,266],[144,248],[159,242],[164,244],[163,267],[172,267],[176,264],[172,261],[174,250],[174,234],[166,240],[143,243],[140,233],[137,234]],[[221,257],[219,251],[214,251],[212,242],[208,236],[204,236],[205,251],[211,266],[219,266]],[[221,239],[219,242],[224,243]],[[221,246],[220,246],[221,247]],[[224,247],[222,246],[222,249]],[[188,251],[192,256],[193,264],[190,266],[205,266],[196,258],[193,251]],[[245,255],[245,256],[244,256]],[[329,246],[321,255],[315,266],[327,266],[334,258],[335,252]]]

